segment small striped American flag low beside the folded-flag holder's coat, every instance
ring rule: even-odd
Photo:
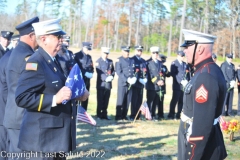
[[[89,123],[93,126],[95,126],[97,123],[96,121],[92,118],[91,115],[89,115],[85,109],[78,105],[78,114],[77,114],[77,120],[85,122],[85,123]]]

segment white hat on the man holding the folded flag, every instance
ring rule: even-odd
[[[59,24],[60,18],[51,19],[47,21],[42,21],[38,23],[33,23],[32,26],[34,28],[35,34],[37,36],[54,34],[54,35],[64,35],[66,34],[61,25]]]

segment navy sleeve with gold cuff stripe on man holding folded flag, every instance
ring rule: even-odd
[[[24,70],[19,77],[15,101],[19,107],[38,112],[50,112],[54,95],[43,94],[45,85],[44,70]]]

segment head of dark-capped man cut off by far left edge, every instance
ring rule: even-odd
[[[1,31],[0,36],[0,58],[9,50],[7,47],[10,44],[13,32]]]

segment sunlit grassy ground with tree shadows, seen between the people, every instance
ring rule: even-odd
[[[77,50],[72,49],[74,52]],[[133,53],[132,53],[133,55]],[[109,58],[115,61],[120,53],[110,53]],[[99,51],[93,51],[92,58],[95,62],[100,57]],[[149,55],[143,55],[148,59]],[[166,66],[169,68],[175,57],[169,57]],[[221,64],[221,62],[218,62]],[[113,89],[108,107],[108,115],[113,119],[98,120],[96,115],[96,73],[91,80],[88,113],[97,121],[96,126],[79,122],[77,124],[77,149],[68,159],[110,159],[110,160],[176,160],[177,159],[177,132],[179,121],[136,121],[116,123],[115,105],[117,95],[117,79],[113,81]],[[167,94],[165,95],[164,112],[167,117],[169,103],[172,96],[172,78],[167,79]],[[145,99],[144,95],[144,99]],[[237,88],[233,100],[233,109],[237,110]],[[240,118],[236,117],[239,121]],[[232,118],[225,118],[230,120]],[[227,159],[240,159],[240,133],[235,133],[235,140],[231,142],[229,135],[224,134],[225,145],[228,152]]]

